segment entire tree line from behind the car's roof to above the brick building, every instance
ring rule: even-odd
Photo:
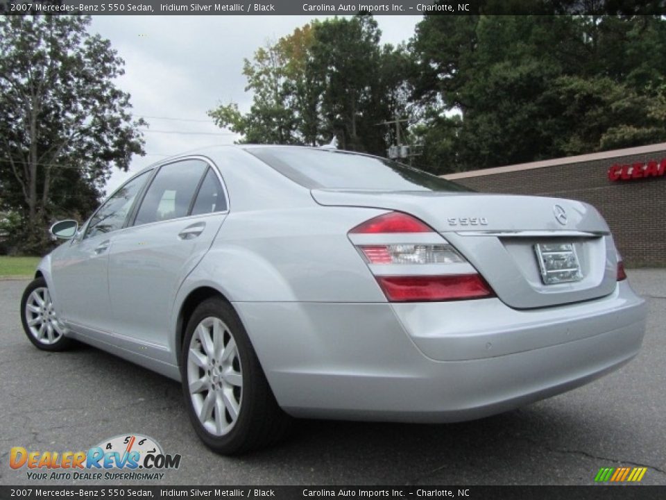
[[[665,18],[483,15],[503,5],[426,15],[408,47],[382,47],[369,16],[306,25],[246,61],[250,113],[230,104],[211,115],[247,142],[334,135],[344,149],[379,154],[395,138],[377,124],[409,117],[420,167],[438,174],[666,140]]]

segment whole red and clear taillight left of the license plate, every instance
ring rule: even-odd
[[[389,212],[359,224],[349,236],[391,302],[495,295],[466,258],[416,217]]]

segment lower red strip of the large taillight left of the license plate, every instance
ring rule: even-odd
[[[478,274],[375,278],[391,302],[483,299],[495,295]]]

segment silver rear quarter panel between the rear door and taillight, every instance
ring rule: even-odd
[[[239,149],[208,156],[223,177],[230,210],[176,294],[174,363],[182,304],[198,288],[213,288],[232,303],[386,302],[347,236],[385,210],[320,206],[309,190]]]

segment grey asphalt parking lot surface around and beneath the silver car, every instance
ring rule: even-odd
[[[80,451],[141,433],[182,455],[162,484],[588,485],[600,467],[640,466],[642,484],[666,485],[666,269],[629,278],[649,318],[642,351],[619,372],[476,422],[301,421],[287,442],[240,458],[200,443],[178,383],[91,347],[35,349],[19,319],[26,281],[0,281],[0,483],[31,483],[10,469],[11,447]]]

